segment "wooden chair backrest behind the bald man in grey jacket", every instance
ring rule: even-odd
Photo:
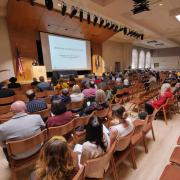
[[[46,140],[47,140],[47,130],[45,129],[42,132],[23,140],[7,141],[6,145],[7,145],[8,155],[11,157],[16,154],[28,152],[34,149],[35,147],[37,147],[37,145],[44,144]]]

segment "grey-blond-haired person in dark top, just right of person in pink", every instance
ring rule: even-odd
[[[87,102],[88,104],[88,102]],[[84,109],[83,114],[91,114],[95,110],[103,110],[109,107],[106,94],[102,89],[96,91],[95,102],[89,102],[89,106]]]

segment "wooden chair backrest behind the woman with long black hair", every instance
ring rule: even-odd
[[[107,167],[115,151],[116,143],[117,140],[112,143],[110,149],[104,155],[88,160],[85,163],[85,176],[88,174],[96,174],[100,169],[105,169]]]

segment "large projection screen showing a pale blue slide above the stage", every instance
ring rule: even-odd
[[[91,69],[89,41],[41,33],[41,43],[47,71]]]

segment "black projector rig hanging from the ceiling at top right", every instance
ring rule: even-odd
[[[133,0],[134,9],[131,11],[133,14],[139,14],[144,11],[150,11],[150,5],[148,0]]]

